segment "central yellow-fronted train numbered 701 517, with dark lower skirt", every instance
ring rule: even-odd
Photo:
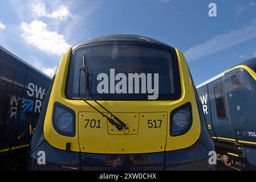
[[[30,144],[30,170],[212,170],[214,145],[181,51],[138,35],[68,49]]]

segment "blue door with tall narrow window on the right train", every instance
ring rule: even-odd
[[[217,78],[208,85],[210,108],[212,110],[212,122],[214,131],[220,140],[235,142],[233,131],[227,117],[227,104],[222,77]]]

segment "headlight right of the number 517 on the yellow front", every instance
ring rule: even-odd
[[[192,108],[190,102],[174,109],[170,113],[170,135],[185,134],[192,126]]]

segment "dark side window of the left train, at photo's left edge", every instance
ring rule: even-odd
[[[0,72],[0,120],[7,117],[13,87],[14,69],[2,66]]]

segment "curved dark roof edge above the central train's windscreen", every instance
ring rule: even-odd
[[[163,43],[159,40],[148,38],[146,36],[133,35],[133,34],[111,34],[111,35],[99,36],[97,38],[87,40],[86,42],[83,42],[83,43],[79,44],[76,47],[84,46],[84,45],[87,45],[87,44],[93,44],[93,43],[113,42],[113,41],[144,42],[144,43],[152,43],[152,44],[161,44],[163,46],[171,47],[168,44]]]

